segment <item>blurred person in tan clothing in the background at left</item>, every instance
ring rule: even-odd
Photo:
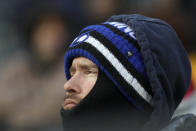
[[[4,63],[0,74],[0,130],[61,127],[64,49],[83,21],[81,12],[76,13],[77,4],[47,0],[15,5],[13,24],[23,44]]]

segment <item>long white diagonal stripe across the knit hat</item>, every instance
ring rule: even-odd
[[[82,36],[77,40],[77,42],[83,41],[83,37],[86,37],[86,35]],[[121,62],[108,50],[100,41],[98,41],[96,38],[89,36],[88,39],[86,39],[83,42],[87,42],[88,44],[95,47],[105,58],[113,65],[113,67],[118,71],[118,73],[124,78],[124,80],[131,85],[134,90],[143,97],[144,100],[146,100],[148,103],[151,104],[151,95],[148,94],[148,92],[142,87],[142,85],[137,81],[136,78],[134,78],[131,73],[121,64]]]

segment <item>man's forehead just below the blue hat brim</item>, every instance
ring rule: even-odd
[[[72,67],[73,66],[88,66],[88,67],[97,68],[95,63],[93,63],[91,60],[89,60],[85,57],[74,58],[72,61]]]

